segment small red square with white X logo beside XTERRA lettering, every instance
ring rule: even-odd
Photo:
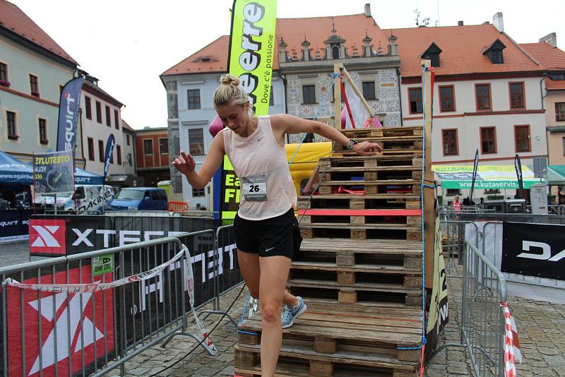
[[[30,220],[30,253],[66,253],[65,220]]]

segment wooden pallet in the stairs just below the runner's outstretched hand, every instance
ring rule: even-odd
[[[320,171],[323,172],[324,167],[331,168],[354,168],[362,167],[366,169],[373,168],[396,168],[396,167],[420,167],[422,168],[422,157],[411,155],[389,156],[359,156],[351,155],[347,157],[332,155],[330,157],[322,157],[319,160]]]

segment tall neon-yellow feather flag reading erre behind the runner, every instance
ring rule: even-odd
[[[276,0],[234,0],[227,71],[241,80],[256,115],[269,112],[276,21]],[[239,179],[227,156],[221,181],[222,219],[233,219],[239,205]]]

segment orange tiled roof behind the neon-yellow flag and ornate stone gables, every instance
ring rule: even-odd
[[[388,40],[386,34],[379,28],[371,16],[364,13],[351,16],[335,17],[312,17],[312,18],[277,18],[275,59],[273,69],[278,69],[278,42],[282,37],[287,44],[287,54],[292,56],[293,50],[297,56],[302,56],[302,42],[306,39],[310,42],[311,56],[315,56],[316,49],[324,56],[326,44],[332,30],[345,40],[347,53],[352,55],[353,47],[362,54],[363,38],[372,38],[373,49],[379,44],[383,47],[383,53],[387,52]],[[187,57],[179,64],[175,64],[164,76],[185,73],[219,73],[227,71],[228,47],[230,36],[222,35],[214,42],[203,47],[203,49]]]

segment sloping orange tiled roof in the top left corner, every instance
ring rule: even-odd
[[[52,40],[31,18],[18,6],[6,0],[0,0],[0,28],[13,32],[20,37],[36,44],[37,47],[61,56],[61,58],[78,65],[65,50]]]

